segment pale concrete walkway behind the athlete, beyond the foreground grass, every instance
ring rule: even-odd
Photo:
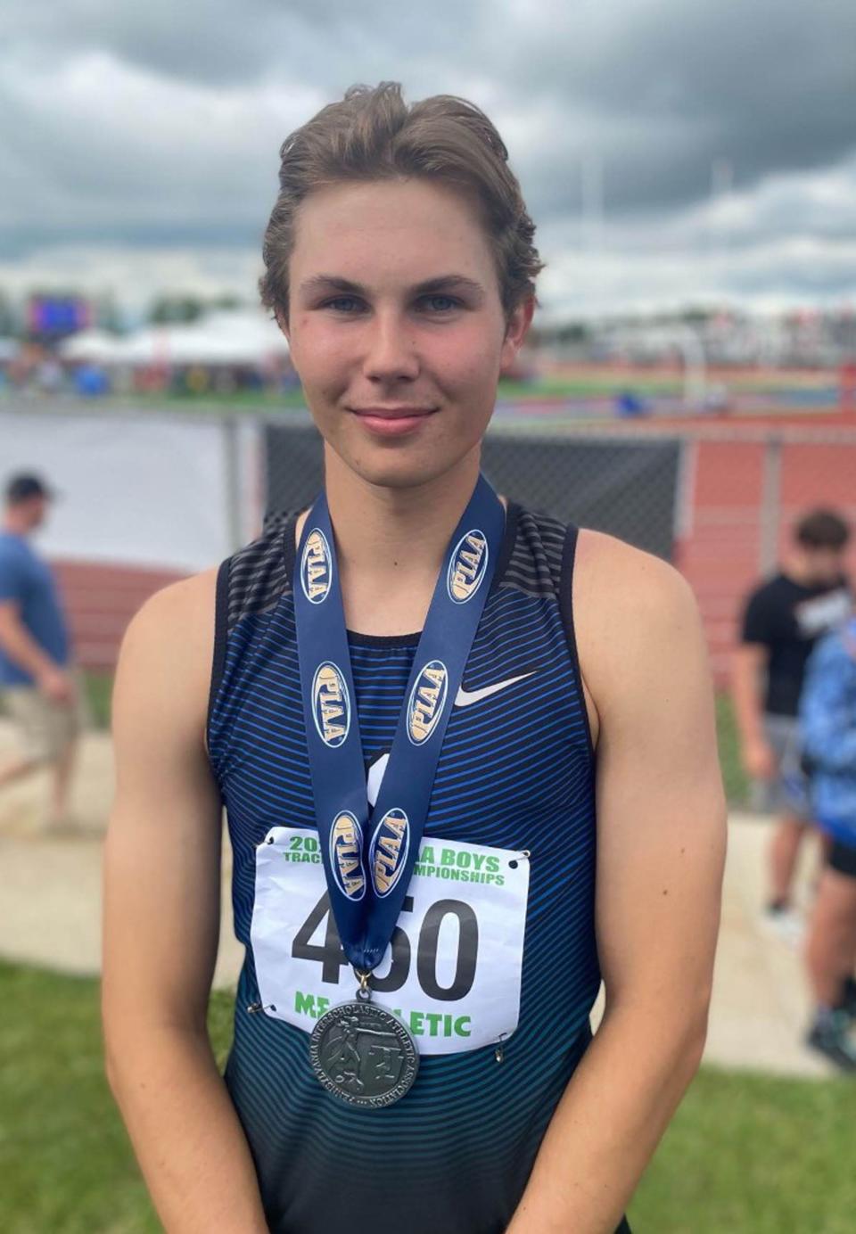
[[[12,748],[0,724],[0,759]],[[39,774],[0,795],[0,955],[68,972],[100,969],[101,843],[113,791],[110,740],[90,734],[75,782],[79,830],[41,833],[47,782]],[[834,1074],[802,1045],[809,1000],[799,951],[767,933],[759,913],[768,824],[734,814],[706,1061],[791,1075]],[[807,845],[799,879],[803,906],[817,854]],[[215,983],[233,986],[243,948],[232,933],[228,845]]]

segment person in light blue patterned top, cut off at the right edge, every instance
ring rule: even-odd
[[[799,719],[814,816],[830,839],[805,948],[817,1000],[805,1040],[856,1072],[856,615],[812,653]]]

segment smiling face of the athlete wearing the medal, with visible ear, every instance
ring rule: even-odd
[[[300,206],[291,358],[324,441],[370,484],[424,484],[477,448],[532,308],[506,328],[477,209],[444,185],[337,184]]]

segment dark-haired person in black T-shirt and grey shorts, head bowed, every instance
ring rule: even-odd
[[[850,529],[829,510],[799,520],[783,569],[749,596],[741,645],[734,656],[734,707],[746,771],[778,814],[770,844],[770,924],[797,942],[802,921],[792,905],[802,838],[810,823],[800,766],[797,711],[805,663],[821,634],[850,612],[844,554]]]

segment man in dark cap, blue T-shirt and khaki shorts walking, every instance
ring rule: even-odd
[[[53,573],[30,543],[53,497],[36,475],[12,476],[0,524],[0,698],[22,749],[0,763],[0,789],[44,764],[52,769],[49,827],[68,823],[68,796],[83,690]]]

